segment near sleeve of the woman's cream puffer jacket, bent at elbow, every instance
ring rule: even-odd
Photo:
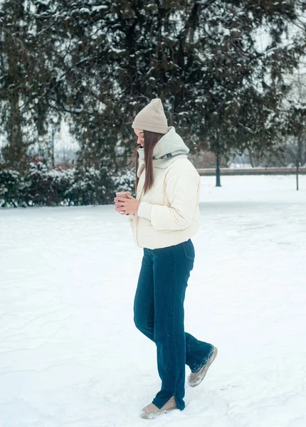
[[[166,194],[170,206],[142,201],[138,216],[151,220],[155,231],[184,230],[191,225],[199,203],[200,177],[197,172],[179,172],[166,179]]]

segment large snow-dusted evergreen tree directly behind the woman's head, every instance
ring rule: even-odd
[[[80,160],[131,151],[132,118],[162,97],[169,124],[193,148],[263,152],[273,144],[304,35],[290,33],[298,1],[74,1],[68,14],[67,90],[80,112]],[[66,9],[65,9],[66,8]],[[260,47],[259,33],[265,46]],[[289,33],[291,35],[287,36]],[[79,41],[74,43],[73,41]],[[76,90],[75,90],[76,89]]]

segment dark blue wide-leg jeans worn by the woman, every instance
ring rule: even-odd
[[[184,332],[185,290],[194,256],[190,239],[168,248],[144,248],[134,300],[134,322],[157,345],[162,389],[153,404],[159,409],[172,396],[177,407],[184,409],[185,364],[197,372],[213,350],[211,344]]]

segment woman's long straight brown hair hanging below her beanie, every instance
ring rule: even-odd
[[[144,167],[146,169],[146,176],[144,179],[144,194],[152,188],[154,184],[154,174],[153,174],[153,150],[159,139],[161,139],[164,134],[159,134],[157,132],[149,132],[149,130],[144,130]],[[136,167],[136,179],[135,179],[135,191],[137,191],[139,178],[137,176],[138,170],[138,159],[139,154],[137,149],[139,145],[134,149],[133,160]]]

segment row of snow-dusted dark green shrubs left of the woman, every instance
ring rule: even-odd
[[[23,176],[0,169],[0,206],[67,206],[110,204],[115,191],[134,193],[134,170],[115,176],[102,167],[51,169],[41,159]]]

